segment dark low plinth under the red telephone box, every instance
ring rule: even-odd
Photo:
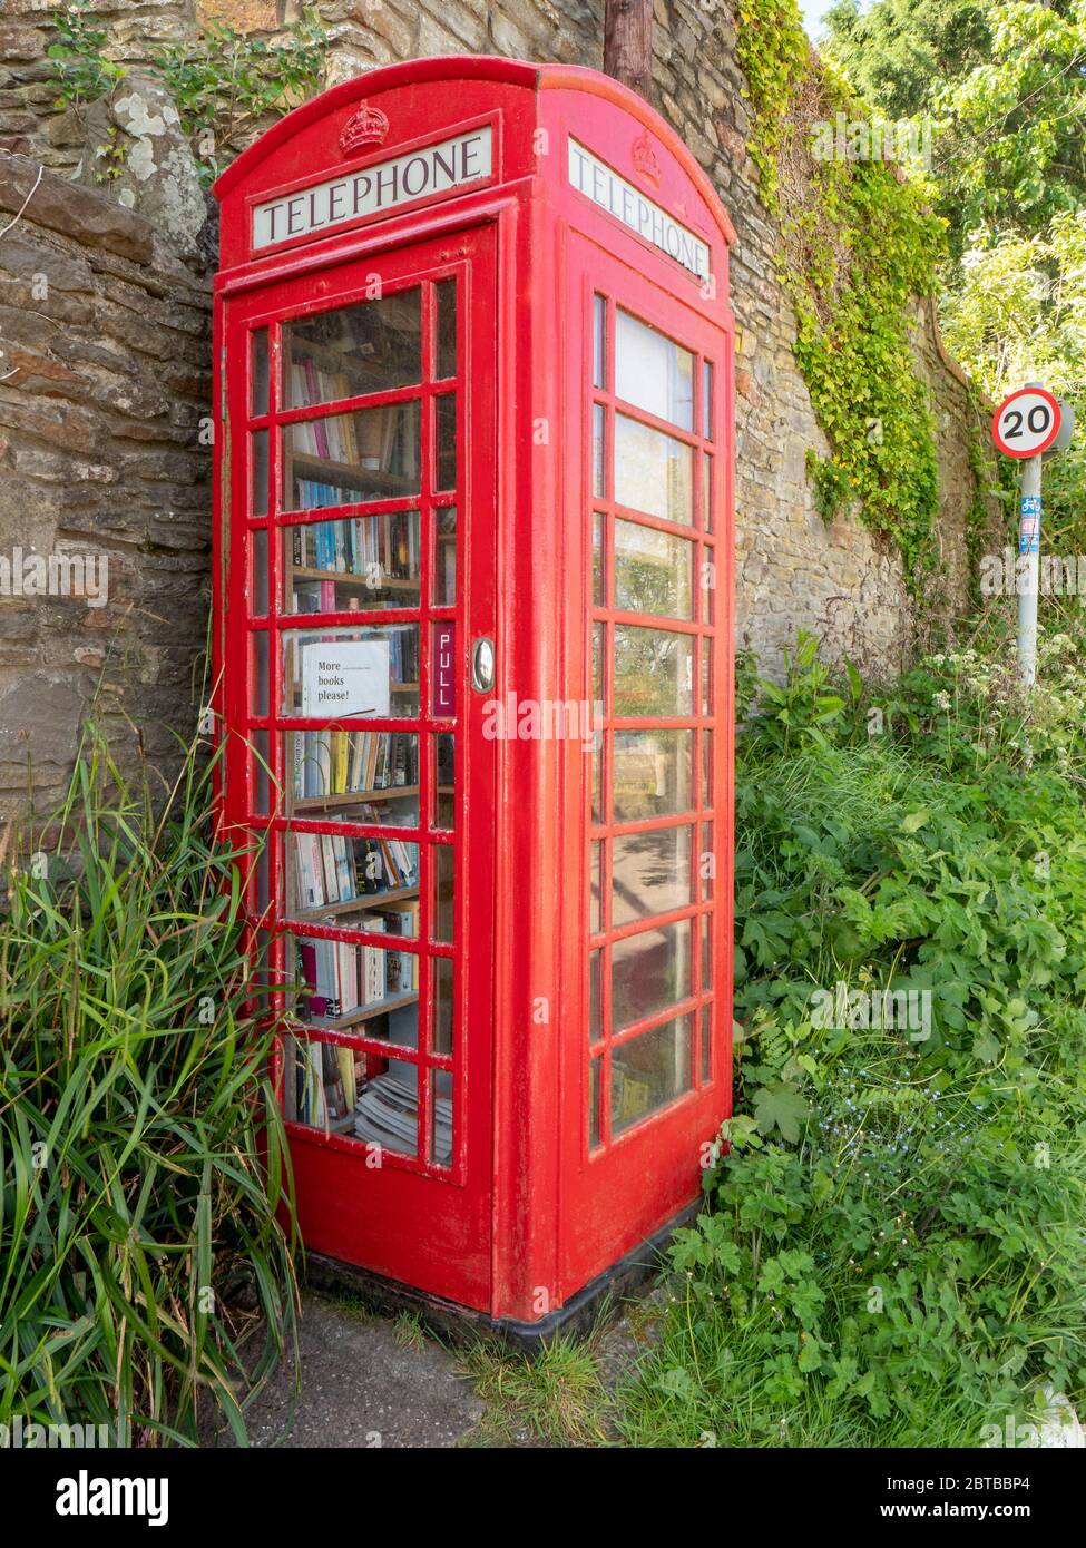
[[[651,1237],[638,1241],[626,1257],[612,1263],[603,1274],[596,1274],[584,1289],[570,1296],[564,1307],[538,1322],[488,1317],[482,1311],[457,1307],[451,1300],[440,1300],[421,1289],[412,1289],[411,1285],[400,1285],[397,1280],[372,1274],[369,1269],[341,1263],[322,1252],[305,1255],[305,1282],[313,1289],[325,1291],[330,1296],[355,1296],[375,1311],[394,1316],[401,1311],[415,1313],[435,1333],[457,1342],[479,1336],[497,1337],[511,1351],[531,1359],[558,1333],[584,1336],[598,1327],[601,1316],[618,1314],[623,1300],[644,1291],[663,1266],[663,1252],[674,1232],[682,1226],[692,1224],[700,1207],[700,1203],[688,1204]]]

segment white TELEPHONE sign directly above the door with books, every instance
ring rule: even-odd
[[[424,146],[363,172],[314,183],[313,187],[268,200],[253,211],[253,246],[270,248],[291,237],[333,231],[376,211],[401,209],[429,194],[463,187],[488,178],[493,170],[490,125],[473,128],[440,146]]]

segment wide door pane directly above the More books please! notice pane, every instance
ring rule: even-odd
[[[287,604],[296,613],[418,607],[418,511],[287,526]]]

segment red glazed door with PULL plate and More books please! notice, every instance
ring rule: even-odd
[[[302,1238],[490,1303],[494,234],[226,303],[226,811]]]

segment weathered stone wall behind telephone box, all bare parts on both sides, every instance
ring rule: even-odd
[[[12,214],[36,169],[5,159],[5,150],[71,175],[87,142],[87,116],[57,107],[45,60],[57,5],[3,0],[0,189]],[[197,14],[274,34],[301,6],[98,0],[96,9],[110,57],[132,65],[189,36]],[[332,39],[327,84],[437,53],[601,65],[603,0],[316,0],[316,9]],[[906,658],[917,622],[889,545],[854,520],[827,526],[815,511],[806,454],[827,447],[795,364],[795,319],[773,269],[779,238],[747,153],[733,20],[699,0],[657,0],[655,15],[654,102],[706,167],[739,238],[737,644],[773,666],[809,628],[832,655],[889,672]],[[50,277],[45,300],[29,288],[36,272]],[[936,610],[951,616],[967,602],[968,447],[979,421],[931,308],[917,308],[914,322],[939,426]],[[15,229],[0,237],[0,350],[20,354],[0,381],[0,554],[29,536],[39,548],[101,546],[112,563],[105,608],[0,599],[0,791],[11,791],[26,748],[50,771],[46,785],[62,776],[101,672],[107,695],[149,738],[161,735],[150,731],[156,718],[189,729],[209,526],[208,454],[197,437],[209,373],[200,252],[183,265],[138,214],[46,172]]]

